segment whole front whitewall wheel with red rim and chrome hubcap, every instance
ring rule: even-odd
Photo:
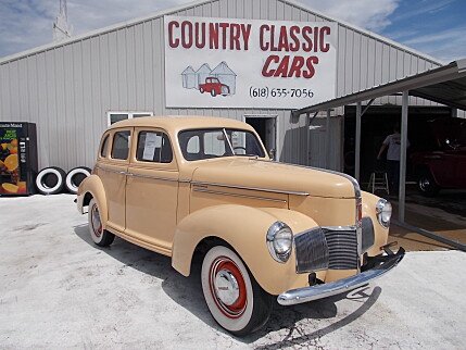
[[[202,290],[212,316],[236,336],[264,326],[273,298],[250,275],[241,259],[224,246],[205,254],[201,271]]]

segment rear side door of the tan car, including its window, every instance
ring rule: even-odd
[[[129,164],[129,143],[133,128],[115,129],[109,134],[110,152],[99,159],[98,174],[105,189],[109,209],[108,225],[119,232],[125,230],[125,185]]]

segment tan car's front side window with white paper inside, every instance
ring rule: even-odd
[[[172,163],[173,151],[168,136],[161,132],[140,132],[136,160],[139,162]]]

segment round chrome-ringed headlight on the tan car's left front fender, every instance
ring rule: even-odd
[[[272,258],[285,263],[291,255],[293,233],[287,224],[277,221],[267,230],[267,248]]]

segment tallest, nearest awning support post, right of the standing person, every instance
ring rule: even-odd
[[[407,146],[407,107],[408,91],[403,91],[401,108],[401,150],[400,150],[400,188],[398,220],[404,223],[405,200],[406,200],[406,146]]]

